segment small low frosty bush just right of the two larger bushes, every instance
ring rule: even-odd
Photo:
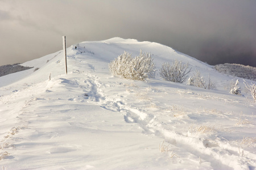
[[[209,75],[208,82],[205,82],[199,70],[196,70],[193,76],[189,77],[187,84],[190,86],[196,86],[196,87],[205,88],[205,89],[215,88],[215,84],[212,82],[212,80],[210,80],[210,75]]]

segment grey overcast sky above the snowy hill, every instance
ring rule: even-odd
[[[82,41],[159,42],[207,62],[256,67],[255,0],[0,0],[0,65]]]

